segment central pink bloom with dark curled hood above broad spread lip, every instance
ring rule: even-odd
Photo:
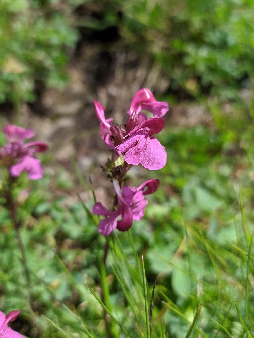
[[[116,148],[125,153],[125,161],[129,164],[141,163],[147,169],[161,169],[166,165],[167,152],[160,142],[151,135],[158,134],[163,126],[164,121],[160,117],[147,119],[133,128],[126,135],[126,140]]]

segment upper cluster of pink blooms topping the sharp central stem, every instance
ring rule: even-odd
[[[112,118],[105,119],[103,106],[99,102],[94,103],[96,115],[101,121],[102,139],[118,154],[124,153],[128,164],[141,163],[143,167],[151,170],[158,170],[166,165],[166,150],[152,135],[158,134],[164,126],[162,116],[169,110],[167,102],[156,101],[149,89],[139,90],[127,112],[129,118],[125,129],[117,123],[112,124]],[[151,112],[154,117],[148,119],[142,110]]]

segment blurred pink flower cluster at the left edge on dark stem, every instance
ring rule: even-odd
[[[5,147],[0,147],[0,164],[9,169],[11,176],[17,177],[26,171],[31,180],[42,178],[44,168],[35,157],[36,152],[44,152],[48,146],[43,142],[24,143],[35,135],[34,130],[24,129],[14,124],[3,128],[7,139]]]

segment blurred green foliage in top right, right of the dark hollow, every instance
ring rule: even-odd
[[[252,0],[99,3],[103,19],[96,28],[116,25],[129,48],[152,56],[173,90],[182,86],[194,96],[234,99],[245,79],[254,77]]]

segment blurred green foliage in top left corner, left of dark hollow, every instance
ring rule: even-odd
[[[0,102],[34,99],[35,82],[63,88],[78,34],[72,1],[0,1]]]

